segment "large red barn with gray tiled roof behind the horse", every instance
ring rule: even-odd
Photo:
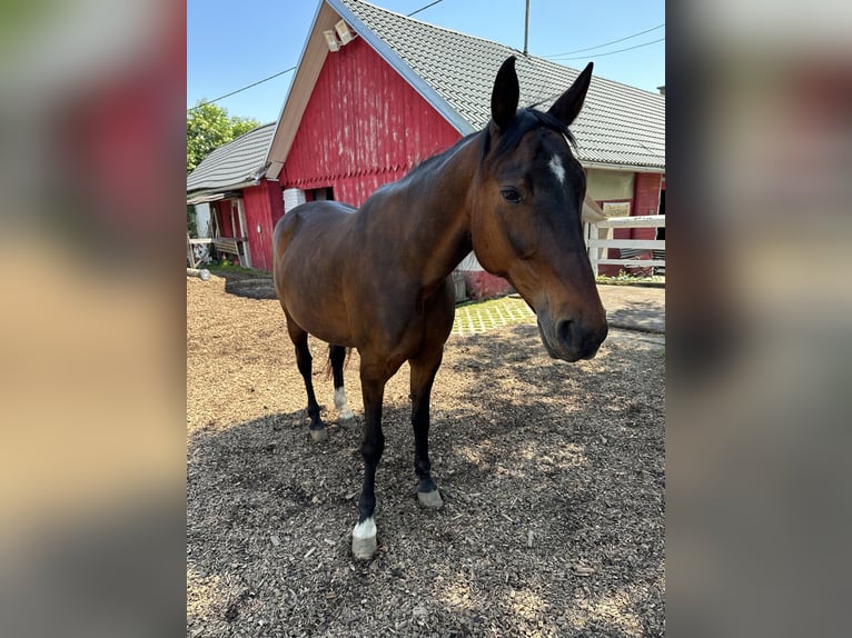
[[[281,211],[271,200],[283,199],[285,212],[314,199],[359,206],[377,187],[485,127],[494,76],[513,54],[522,104],[549,107],[578,73],[360,0],[321,0],[265,161],[258,165],[262,179],[250,187],[260,190],[242,190],[251,265],[271,268],[270,229]],[[628,215],[661,212],[663,96],[595,77],[572,130],[590,200],[605,208],[620,205]],[[648,229],[626,232],[645,238]],[[459,270],[475,297],[508,290],[473,256]]]

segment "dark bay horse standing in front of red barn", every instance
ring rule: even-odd
[[[592,64],[547,112],[518,110],[515,58],[497,72],[492,120],[482,131],[376,190],[358,210],[310,202],[287,213],[274,237],[275,287],[308,395],[309,430],[325,437],[311,382],[308,333],[330,343],[335,405],[346,348],[360,355],[364,486],[353,554],[376,550],[374,481],[385,446],[385,383],[410,366],[417,496],[443,506],[428,456],[429,395],[455,312],[448,276],[470,251],[535,311],[544,347],[566,361],[595,356],[606,317],[583,242],[585,175],[571,151]]]

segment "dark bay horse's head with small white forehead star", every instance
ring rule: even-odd
[[[518,111],[515,58],[503,63],[470,202],[477,259],[509,280],[535,310],[547,352],[566,361],[594,357],[607,331],[583,241],[586,178],[567,128],[591,77],[590,63],[546,113]]]

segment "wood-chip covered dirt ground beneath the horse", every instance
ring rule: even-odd
[[[404,366],[385,393],[378,551],[356,562],[359,428],[338,427],[314,341],[329,437],[310,441],[268,297],[268,281],[187,278],[188,636],[664,634],[658,340],[613,330],[567,365],[534,325],[450,337],[433,392],[435,512],[415,494]],[[357,352],[346,385],[360,418]]]

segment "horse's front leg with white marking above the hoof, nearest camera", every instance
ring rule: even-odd
[[[371,373],[361,365],[361,391],[364,395],[364,486],[358,500],[358,525],[353,530],[353,556],[359,560],[373,558],[376,552],[376,468],[385,450],[385,435],[382,432],[382,401],[387,378]]]

